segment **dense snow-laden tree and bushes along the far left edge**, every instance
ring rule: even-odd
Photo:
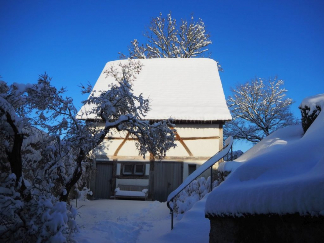
[[[55,196],[64,177],[50,149],[56,139],[39,130],[57,121],[45,114],[50,107],[62,110],[57,104],[64,89],[56,90],[44,74],[37,84],[0,81],[0,91],[0,240],[66,242],[78,229],[76,210]]]

